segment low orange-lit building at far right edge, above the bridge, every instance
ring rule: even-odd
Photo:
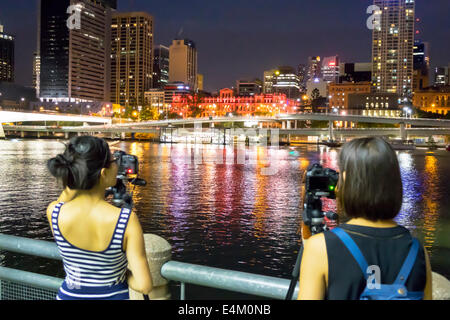
[[[435,86],[414,93],[413,106],[426,112],[450,112],[450,86]]]

